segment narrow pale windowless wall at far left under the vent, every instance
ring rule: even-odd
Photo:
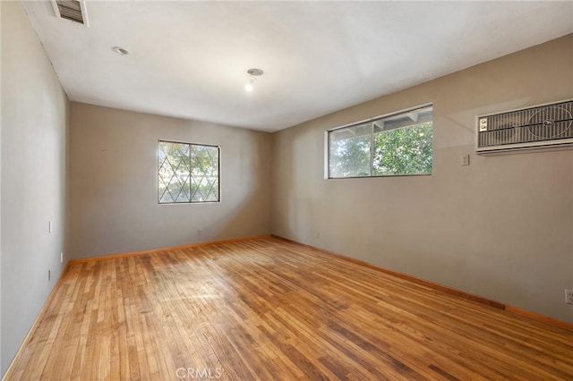
[[[0,6],[4,374],[64,267],[68,101],[21,4]]]

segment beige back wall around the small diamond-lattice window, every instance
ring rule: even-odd
[[[71,105],[73,258],[269,233],[269,133]],[[158,205],[158,140],[220,146],[221,202]]]

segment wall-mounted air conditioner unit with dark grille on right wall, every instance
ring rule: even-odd
[[[476,119],[478,154],[573,145],[573,99]]]

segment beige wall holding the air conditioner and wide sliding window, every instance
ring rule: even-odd
[[[474,152],[475,115],[571,97],[573,35],[280,131],[272,233],[573,322],[573,152]],[[324,131],[428,102],[432,176],[324,180]]]

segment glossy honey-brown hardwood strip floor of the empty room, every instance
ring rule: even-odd
[[[6,379],[573,379],[573,332],[273,238],[73,264]]]

